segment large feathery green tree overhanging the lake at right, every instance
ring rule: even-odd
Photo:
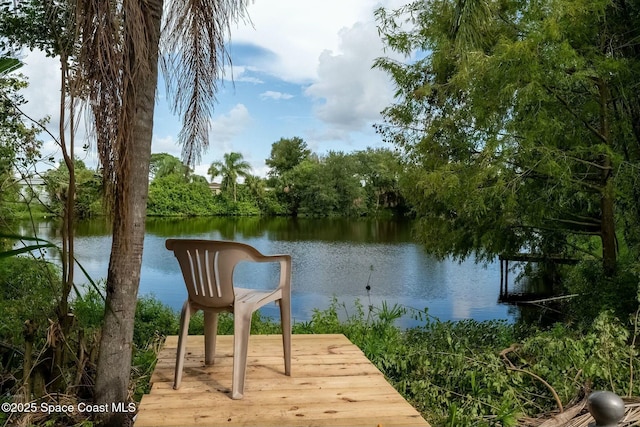
[[[637,12],[611,0],[377,11],[388,47],[417,56],[376,62],[398,89],[378,129],[404,152],[430,252],[570,255],[594,236],[614,274],[617,174],[638,159]]]

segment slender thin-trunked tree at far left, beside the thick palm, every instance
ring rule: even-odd
[[[77,100],[81,91],[76,78],[80,73],[72,72],[72,63],[78,55],[78,31],[75,22],[76,4],[74,1],[39,1],[24,0],[20,2],[5,2],[0,7],[0,34],[2,34],[2,47],[13,51],[20,51],[25,47],[39,49],[48,56],[58,57],[60,80],[60,117],[58,133],[54,135],[47,127],[45,121],[36,122],[29,117],[40,130],[46,132],[54,143],[60,148],[63,161],[67,168],[68,179],[66,185],[67,194],[62,206],[62,221],[60,235],[62,240],[61,263],[62,284],[56,319],[54,322],[59,330],[61,339],[51,340],[51,345],[45,350],[50,354],[51,381],[49,389],[56,392],[65,392],[68,383],[64,381],[63,372],[73,369],[70,362],[72,316],[69,314],[69,299],[74,288],[74,205],[76,195],[76,171],[75,159],[75,134]],[[22,112],[21,112],[22,113]],[[23,113],[22,113],[23,114]],[[23,114],[24,115],[24,114]],[[30,175],[30,174],[28,174]],[[29,176],[26,176],[29,178]],[[33,232],[36,234],[36,231]],[[28,370],[25,370],[28,372]],[[23,378],[27,395],[29,394],[29,377]]]

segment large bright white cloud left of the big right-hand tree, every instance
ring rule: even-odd
[[[252,63],[287,82],[307,85],[314,113],[327,125],[324,138],[348,138],[379,121],[393,99],[388,76],[372,70],[388,55],[377,32],[374,11],[396,9],[407,0],[257,0],[248,7],[253,26],[232,28],[234,43],[256,46],[268,54]],[[265,92],[266,94],[266,92]],[[264,97],[263,97],[264,99]]]

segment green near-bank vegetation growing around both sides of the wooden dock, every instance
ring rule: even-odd
[[[20,258],[14,261],[26,262]],[[6,261],[1,265],[2,273],[10,273]],[[14,267],[14,273],[24,271],[22,265]],[[33,402],[26,398],[25,386],[20,383],[21,371],[27,366],[42,369],[45,364],[43,357],[48,345],[43,340],[46,336],[51,339],[51,331],[45,331],[47,296],[43,290],[35,295],[42,300],[38,308],[28,305],[33,320],[23,325],[22,330],[20,319],[24,314],[19,312],[28,309],[16,302],[31,299],[32,292],[13,295],[13,302],[0,299],[3,313],[8,315],[0,329],[3,403]],[[38,405],[42,402],[77,405],[90,401],[91,384],[78,371],[91,371],[95,364],[103,297],[89,290],[82,298],[76,298],[72,306],[74,338],[82,341],[85,351],[77,355],[68,372],[60,374],[66,381],[77,382],[73,387],[75,393],[45,394],[37,401]],[[53,305],[49,303],[48,307],[52,309]],[[395,320],[404,315],[419,319],[421,326],[405,330],[395,326]],[[8,321],[13,324],[7,324]],[[167,335],[177,334],[178,321],[179,314],[154,297],[138,301],[130,383],[133,402],[148,392],[157,352]],[[638,313],[622,319],[612,311],[603,311],[591,321],[574,319],[546,328],[525,321],[442,322],[426,311],[390,302],[364,306],[356,301],[354,306],[346,306],[334,297],[327,309],[314,310],[311,320],[294,322],[293,331],[347,336],[434,426],[516,426],[525,419],[562,411],[592,390],[611,390],[621,396],[640,394],[640,383],[634,379],[639,362],[635,348],[638,326]],[[8,345],[6,336],[9,331],[14,334],[12,345]],[[259,312],[254,314],[252,334],[278,331],[277,322]],[[203,333],[201,313],[192,319],[189,333]],[[219,333],[233,333],[231,316],[221,316]],[[39,353],[24,351],[29,343],[32,348],[40,348]],[[31,361],[26,360],[28,357]],[[83,369],[78,370],[78,365]],[[46,381],[47,373],[40,375]],[[33,387],[38,387],[37,381]],[[46,418],[38,413],[9,415],[0,413],[0,425],[93,425],[77,414],[75,418],[61,414]]]

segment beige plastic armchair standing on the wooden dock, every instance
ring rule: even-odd
[[[285,375],[291,375],[291,256],[262,255],[244,243],[217,240],[168,239],[167,249],[178,259],[189,294],[180,315],[180,335],[176,354],[173,388],[182,381],[184,353],[189,333],[189,319],[204,311],[205,364],[213,364],[218,330],[218,313],[233,313],[233,382],[232,399],[241,399],[247,368],[247,347],[251,316],[265,304],[276,301],[280,306]],[[240,261],[279,262],[280,282],[274,290],[237,288],[233,271]]]

